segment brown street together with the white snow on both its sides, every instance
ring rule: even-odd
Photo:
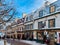
[[[4,40],[0,40],[0,45],[4,45]],[[27,41],[27,40],[19,41],[19,40],[8,39],[6,45],[46,45],[46,44],[36,43],[35,41]]]

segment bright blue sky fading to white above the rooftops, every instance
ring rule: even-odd
[[[56,0],[48,1],[54,2]],[[23,13],[29,14],[40,8],[43,5],[44,0],[7,0],[7,2],[13,2],[14,6],[16,7],[16,11],[18,12],[18,14],[15,17],[22,18]]]

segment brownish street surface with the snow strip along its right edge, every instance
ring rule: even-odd
[[[35,41],[28,41],[28,40],[7,40],[8,43],[11,43],[12,45],[46,45],[46,44],[41,44],[37,43]]]

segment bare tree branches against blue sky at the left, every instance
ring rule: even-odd
[[[12,4],[7,4],[5,0],[0,0],[0,22],[8,22],[13,18],[15,14],[15,8],[11,6]]]

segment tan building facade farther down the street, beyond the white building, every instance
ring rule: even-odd
[[[25,18],[18,19],[16,22],[11,23],[11,25],[7,26],[7,38],[13,39],[22,39],[24,33],[24,20]]]

